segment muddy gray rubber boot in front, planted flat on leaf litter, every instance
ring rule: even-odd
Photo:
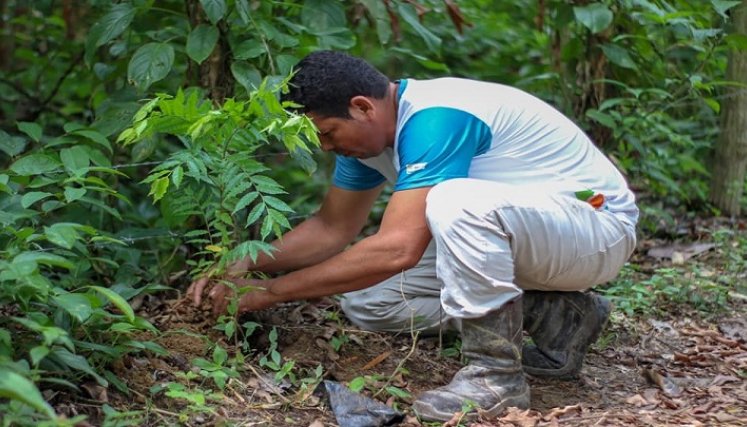
[[[478,319],[462,320],[462,353],[469,364],[443,387],[413,404],[427,421],[448,421],[455,412],[481,408],[497,417],[508,407],[529,407],[529,385],[521,368],[521,300]],[[471,412],[467,418],[474,418]]]

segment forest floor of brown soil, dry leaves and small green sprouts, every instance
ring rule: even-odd
[[[471,424],[456,416],[447,425],[747,426],[745,248],[731,244],[739,251],[734,257],[730,245],[709,245],[690,240],[672,249],[642,242],[635,268],[608,291],[618,304],[580,378],[529,377],[530,409]],[[727,276],[742,285],[724,291],[719,280]],[[630,284],[637,286],[628,291]],[[437,426],[419,422],[410,404],[462,366],[453,337],[362,331],[331,298],[250,319],[260,327],[249,339],[253,352],[240,364],[231,357],[236,343],[225,342],[214,320],[187,300],[150,298],[140,315],[162,331],[141,339],[169,353],[128,356],[115,365],[129,395],[84,385],[90,398],[55,397],[59,413],[87,414],[89,425],[108,426],[346,427],[338,424],[324,387],[315,387],[325,379],[400,410],[404,418],[394,425]],[[215,343],[228,351],[227,361],[214,357]],[[197,358],[205,359],[197,363],[201,368]],[[237,376],[221,390],[215,372]]]

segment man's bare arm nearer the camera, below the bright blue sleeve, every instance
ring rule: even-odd
[[[379,232],[326,261],[260,283],[266,292],[242,297],[243,310],[274,303],[355,291],[413,267],[422,257],[431,234],[425,218],[430,187],[395,192]],[[253,299],[257,302],[253,304]]]

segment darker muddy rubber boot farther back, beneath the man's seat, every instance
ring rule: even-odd
[[[524,327],[534,345],[522,349],[524,371],[573,379],[610,316],[609,301],[593,293],[524,292]]]

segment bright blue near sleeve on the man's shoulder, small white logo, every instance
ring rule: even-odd
[[[400,170],[394,191],[466,177],[472,159],[488,151],[491,139],[488,125],[466,111],[418,111],[399,133]]]

